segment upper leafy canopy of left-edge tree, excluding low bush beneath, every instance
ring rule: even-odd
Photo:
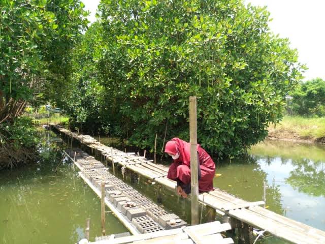
[[[1,0],[0,105],[41,99],[49,83],[63,82],[69,52],[87,24],[82,8],[80,0]],[[11,112],[1,110],[0,121]]]

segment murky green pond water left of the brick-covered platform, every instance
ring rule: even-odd
[[[51,156],[52,157],[52,156]],[[90,218],[90,239],[101,236],[101,204],[77,169],[61,157],[0,171],[0,243],[76,243]],[[127,229],[106,215],[106,233]]]

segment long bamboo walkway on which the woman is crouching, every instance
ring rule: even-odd
[[[134,153],[124,153],[105,146],[88,135],[78,135],[59,126],[53,126],[53,129],[78,140],[81,144],[91,148],[93,153],[98,151],[105,161],[110,164],[113,162],[113,165],[121,165],[169,189],[175,190],[176,188],[176,182],[167,178],[168,167],[164,165],[154,164],[152,161]],[[199,200],[203,204],[214,208],[219,215],[223,216],[225,221],[231,224],[232,228],[243,226],[243,224],[238,224],[238,221],[240,221],[246,225],[266,230],[266,232],[274,236],[293,243],[325,243],[324,231],[258,206],[263,204],[263,201],[248,202],[217,188],[209,193],[200,194]]]

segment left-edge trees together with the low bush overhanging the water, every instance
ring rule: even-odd
[[[35,145],[32,125],[17,117],[28,103],[63,89],[87,12],[81,0],[0,0],[0,6],[0,165],[12,166],[35,153],[28,151]]]

